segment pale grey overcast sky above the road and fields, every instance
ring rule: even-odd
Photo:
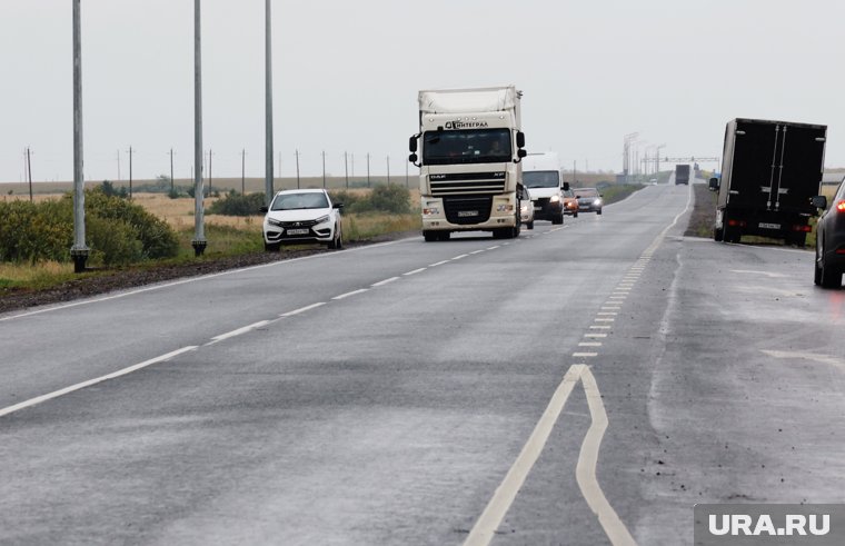
[[[72,179],[71,0],[0,0],[0,181]],[[264,0],[202,1],[203,143],[212,175],[265,165]],[[417,91],[515,83],[529,151],[622,170],[640,155],[720,156],[736,117],[828,126],[845,167],[842,0],[274,1],[281,175],[405,175]],[[82,0],[87,180],[190,176],[193,1]],[[713,166],[705,163],[705,166]],[[351,168],[351,165],[350,165]],[[415,169],[411,168],[411,172]]]

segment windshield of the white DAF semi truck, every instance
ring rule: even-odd
[[[491,163],[510,161],[509,129],[426,131],[422,135],[422,163]]]

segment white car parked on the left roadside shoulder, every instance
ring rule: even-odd
[[[342,203],[332,203],[325,189],[295,189],[276,193],[270,207],[261,207],[265,250],[282,245],[319,242],[331,249],[344,247],[340,219]]]

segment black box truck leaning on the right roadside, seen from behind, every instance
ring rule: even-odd
[[[725,128],[722,179],[713,238],[739,242],[744,235],[784,239],[803,247],[818,193],[827,127],[734,119]]]

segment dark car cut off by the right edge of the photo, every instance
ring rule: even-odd
[[[824,288],[841,288],[845,271],[845,180],[827,208],[827,198],[817,196],[813,205],[825,210],[816,225],[815,284]]]

